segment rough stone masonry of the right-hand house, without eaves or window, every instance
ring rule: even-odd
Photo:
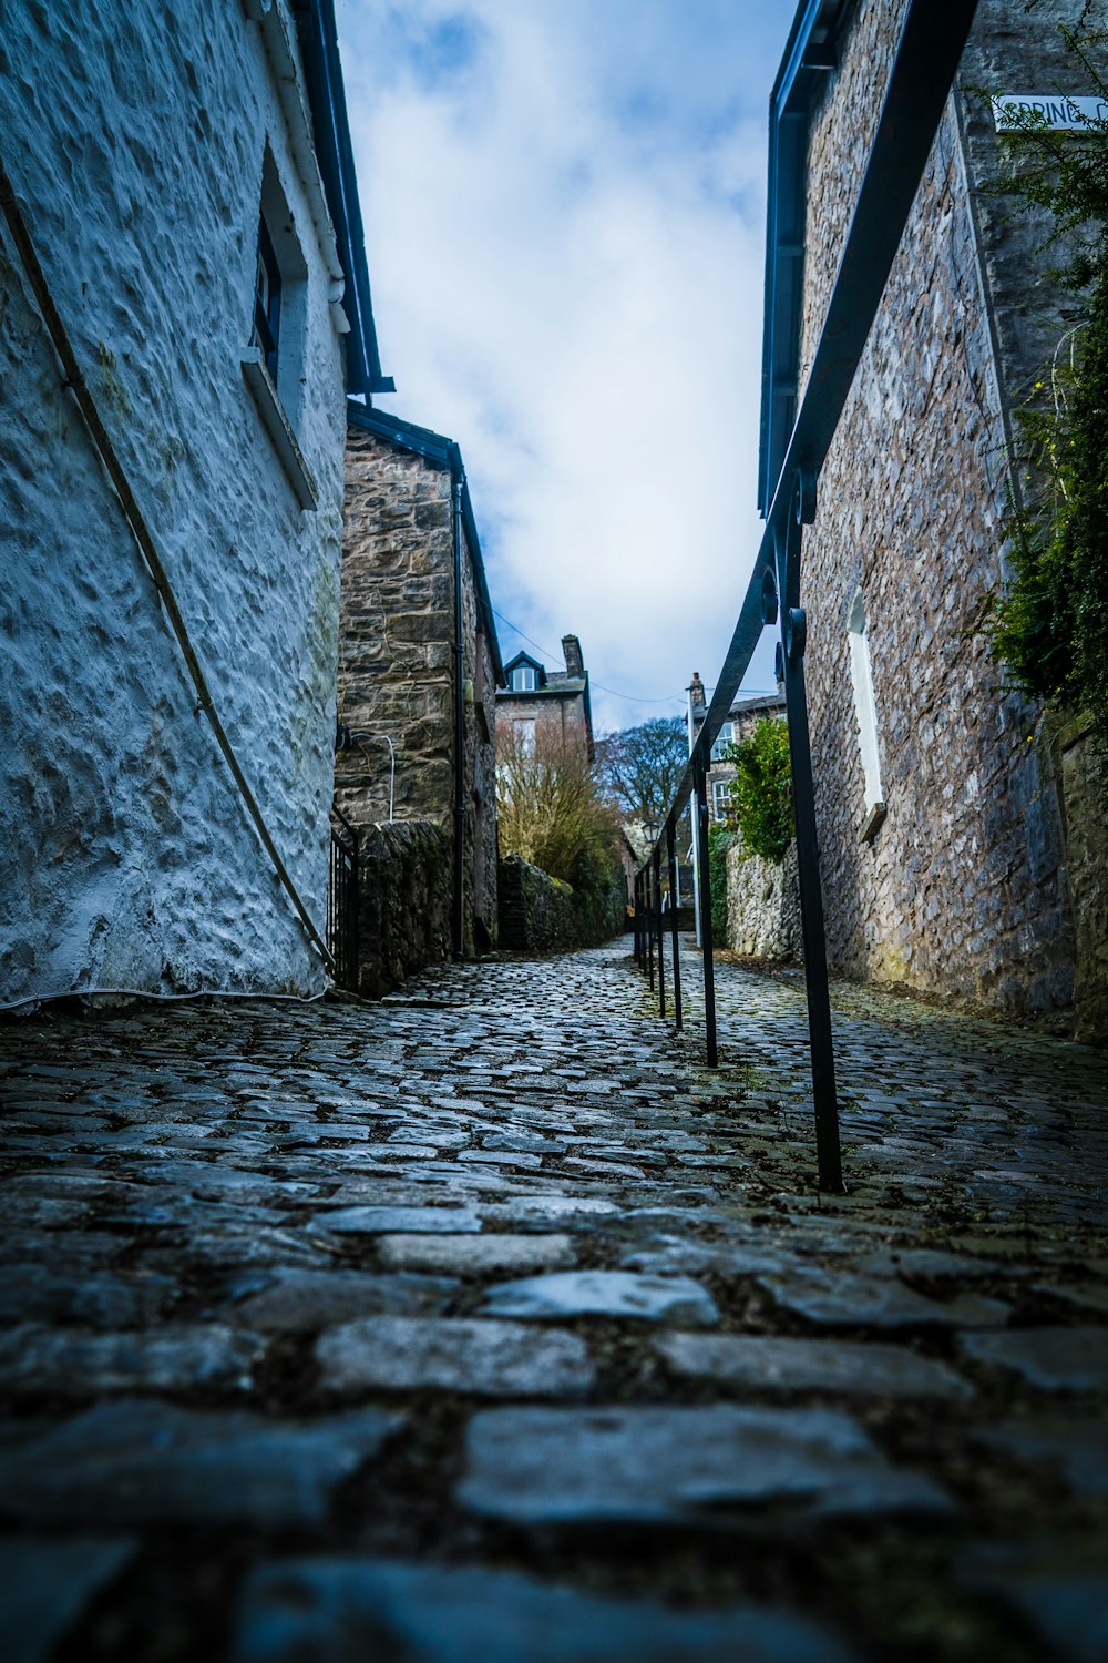
[[[988,28],[998,15],[983,7]],[[892,8],[859,7],[812,128],[809,346],[857,190],[872,68],[889,62],[892,28]],[[977,234],[952,101],[806,539],[829,956],[856,976],[1048,1009],[1068,1004],[1073,976],[1057,790],[1037,742],[1038,710],[1005,687],[978,634],[1003,570],[1012,373],[1002,363],[998,374]],[[865,803],[847,645],[859,587],[887,803],[870,843],[859,840]]]

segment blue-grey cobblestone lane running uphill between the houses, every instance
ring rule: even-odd
[[[718,978],[0,1026],[5,1656],[1108,1658],[1103,1056]]]

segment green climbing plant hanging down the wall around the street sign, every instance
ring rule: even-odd
[[[1093,63],[1106,30],[1063,30],[1071,60],[1108,100]],[[1018,683],[1088,710],[1108,743],[1108,121],[1053,133],[1023,116],[1005,135],[993,191],[1017,211],[1045,210],[1043,248],[1078,313],[1015,414],[1015,481],[1005,532],[1013,579],[987,632]]]

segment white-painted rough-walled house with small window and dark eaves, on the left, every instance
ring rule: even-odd
[[[0,999],[327,983],[347,392],[332,0],[0,42]]]

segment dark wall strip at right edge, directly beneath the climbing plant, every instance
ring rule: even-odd
[[[1073,1036],[1108,1043],[1108,762],[1088,720],[1058,738],[1066,881],[1073,908]]]

